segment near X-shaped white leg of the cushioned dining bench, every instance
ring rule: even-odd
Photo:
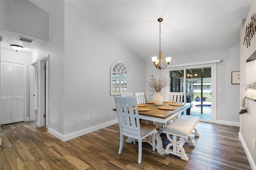
[[[184,148],[182,147],[185,143],[185,138],[179,139],[179,136],[173,137],[170,134],[166,134],[167,138],[170,140],[170,143],[166,146],[164,150],[166,154],[173,154],[179,156],[182,160],[188,161],[188,156],[185,153]],[[172,149],[170,147],[172,146]]]

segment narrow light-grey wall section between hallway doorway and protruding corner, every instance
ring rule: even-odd
[[[64,1],[36,1],[37,5],[48,4],[49,42],[32,53],[31,62],[49,56],[48,127],[64,134]]]

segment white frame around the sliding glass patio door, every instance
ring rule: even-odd
[[[216,123],[216,95],[217,95],[217,63],[220,63],[220,59],[211,60],[211,61],[201,61],[196,63],[186,63],[186,64],[179,64],[179,65],[172,65],[171,67],[166,67],[166,69],[161,69],[160,74],[164,77],[170,77],[170,71],[174,70],[184,70],[184,85],[186,85],[186,69],[190,68],[198,68],[198,67],[211,67],[211,74],[212,74],[212,113],[211,113],[211,120],[202,120],[204,122],[209,123]],[[166,97],[164,94],[168,94],[169,92],[169,85],[163,88],[163,98]],[[184,96],[186,95],[187,89],[184,88]],[[166,98],[165,98],[166,99]],[[165,100],[164,99],[164,100]],[[186,102],[186,97],[184,97],[184,102]],[[201,120],[200,120],[201,121]]]

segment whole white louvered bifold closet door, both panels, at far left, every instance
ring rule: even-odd
[[[24,64],[1,62],[1,125],[24,121]]]

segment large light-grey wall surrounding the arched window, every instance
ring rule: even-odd
[[[114,40],[70,2],[65,3],[64,134],[116,120],[110,67],[122,61],[129,92],[145,91],[145,62]],[[84,116],[90,121],[83,122]]]

